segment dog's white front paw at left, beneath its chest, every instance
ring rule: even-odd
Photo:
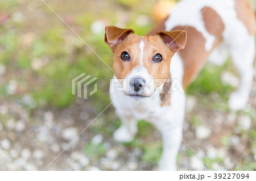
[[[121,125],[121,127],[114,132],[113,138],[117,142],[131,142],[133,135],[131,135],[125,126]]]

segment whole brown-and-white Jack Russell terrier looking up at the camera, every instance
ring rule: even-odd
[[[137,120],[150,122],[163,139],[159,170],[176,170],[185,113],[183,90],[207,60],[221,65],[230,55],[236,66],[241,79],[238,90],[230,95],[232,110],[245,108],[250,96],[254,76],[254,11],[247,0],[211,3],[212,0],[180,1],[144,37],[130,29],[106,27],[105,42],[114,53],[110,90],[122,89],[110,94],[122,121],[114,132],[114,140],[133,140]],[[179,89],[179,82],[183,89]]]

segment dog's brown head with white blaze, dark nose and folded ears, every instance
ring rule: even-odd
[[[166,82],[172,56],[184,49],[187,32],[160,31],[155,36],[138,36],[133,30],[106,27],[105,42],[114,53],[115,77],[126,95],[151,96]]]

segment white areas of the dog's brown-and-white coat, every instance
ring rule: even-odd
[[[197,18],[201,9],[212,2],[213,0],[180,1],[175,9],[172,10],[170,18],[166,22],[166,31],[171,30],[175,26],[188,26]],[[232,61],[241,75],[241,86],[230,97],[229,106],[234,110],[238,110],[245,107],[250,95],[253,79],[255,37],[250,36],[243,23],[237,19],[236,11],[234,10],[234,0],[216,0],[210,7],[221,16],[225,24],[225,31],[222,35],[224,37],[224,41],[221,44],[222,48],[216,48],[209,59],[221,65],[228,56],[227,50],[230,53]],[[207,51],[212,49],[215,37],[207,32],[201,16],[191,26],[195,27],[205,37],[205,49]],[[141,49],[140,62],[143,65],[143,40],[139,44],[139,48]],[[226,49],[226,52],[221,50],[223,48]],[[142,67],[137,67],[131,71],[127,78],[137,75],[144,78],[150,77],[150,74],[146,70],[146,73],[143,73],[143,70]],[[183,63],[178,54],[172,57],[170,73],[172,81],[178,79],[182,84],[184,74]],[[120,82],[115,80],[110,83],[110,90],[117,87],[122,87]],[[110,94],[116,113],[122,120],[121,127],[114,132],[114,139],[125,142],[131,141],[134,134],[137,133],[137,120],[149,121],[160,131],[163,138],[163,153],[159,162],[159,170],[175,170],[176,157],[182,137],[185,94],[182,94],[180,91],[173,91],[170,100],[171,105],[161,107],[159,92],[162,88],[163,85],[158,87],[151,97],[142,100],[135,100],[125,95],[123,91],[116,91],[114,94]]]

